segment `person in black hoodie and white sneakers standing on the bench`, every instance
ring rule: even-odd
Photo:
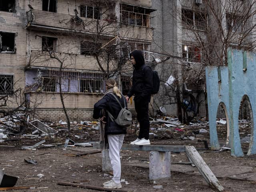
[[[153,87],[153,71],[150,67],[145,67],[145,60],[141,51],[133,51],[130,54],[130,58],[134,70],[132,88],[128,92],[126,100],[128,102],[129,98],[134,95],[135,110],[137,112],[138,122],[140,123],[139,136],[131,144],[150,145],[148,103],[150,102]]]

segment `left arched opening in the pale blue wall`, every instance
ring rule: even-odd
[[[226,105],[220,102],[216,115],[216,129],[220,147],[229,147],[229,119]]]

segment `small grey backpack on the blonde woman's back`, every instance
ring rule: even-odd
[[[112,114],[109,111],[107,111],[108,116],[110,117],[110,120],[116,122],[116,124],[120,126],[129,126],[130,124],[132,124],[132,113],[128,109],[126,109],[125,100],[124,100],[124,108],[123,108],[119,100],[116,98],[116,96],[114,94],[112,95],[114,96],[116,101],[120,104],[122,109],[120,110],[116,119],[114,119]],[[122,98],[124,99],[124,96],[122,96]]]

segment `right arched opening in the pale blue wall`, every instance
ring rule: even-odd
[[[253,114],[252,106],[247,95],[244,95],[240,102],[238,126],[242,150],[244,153],[250,155],[251,135],[253,134]]]

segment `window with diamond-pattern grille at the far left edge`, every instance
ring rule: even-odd
[[[14,75],[0,74],[0,95],[11,95],[13,93]]]

